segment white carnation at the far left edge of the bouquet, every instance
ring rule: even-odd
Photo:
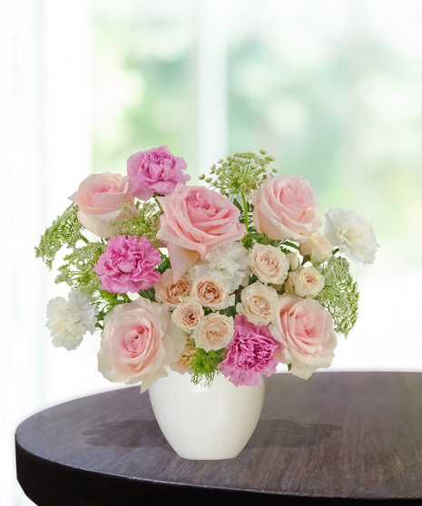
[[[55,297],[47,304],[47,326],[54,346],[76,349],[86,332],[95,331],[97,307],[90,304],[91,297],[72,290],[69,300]]]

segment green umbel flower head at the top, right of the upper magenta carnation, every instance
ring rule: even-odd
[[[267,167],[274,158],[266,153],[267,151],[263,150],[260,154],[251,151],[234,153],[233,156],[227,157],[226,161],[220,160],[219,167],[212,165],[213,177],[205,179],[202,175],[199,179],[205,179],[211,188],[226,197],[248,196],[251,191],[258,190],[268,176]],[[275,169],[273,171],[276,172]]]

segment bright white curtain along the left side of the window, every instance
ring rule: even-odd
[[[62,295],[34,246],[90,171],[89,2],[1,0],[0,47],[0,504],[15,506],[32,504],[15,428],[53,404],[45,303]]]

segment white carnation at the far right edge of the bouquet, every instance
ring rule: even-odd
[[[372,225],[356,212],[332,208],[326,213],[324,235],[339,252],[357,264],[371,264],[379,248]]]

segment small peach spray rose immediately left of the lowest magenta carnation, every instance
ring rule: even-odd
[[[211,313],[204,316],[192,334],[195,345],[206,352],[225,348],[229,345],[233,336],[233,318],[220,313]]]

